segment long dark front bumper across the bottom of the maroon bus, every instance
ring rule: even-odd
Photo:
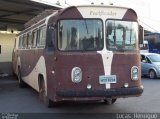
[[[143,93],[143,86],[120,89],[106,89],[106,90],[57,90],[56,94],[60,97],[127,97],[139,96]]]

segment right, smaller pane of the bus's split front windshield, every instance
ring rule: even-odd
[[[138,24],[133,21],[106,21],[106,45],[112,51],[135,51],[138,48]]]

